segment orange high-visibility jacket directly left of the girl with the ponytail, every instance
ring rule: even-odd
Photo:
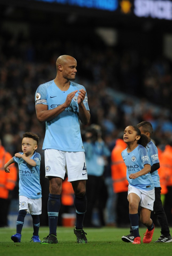
[[[121,156],[121,152],[126,147],[127,144],[123,139],[117,139],[111,153],[111,175],[115,193],[128,191],[129,183],[126,179],[126,165]]]

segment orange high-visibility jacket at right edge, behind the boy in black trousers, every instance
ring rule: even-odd
[[[161,162],[158,173],[166,186],[172,186],[172,147],[170,145],[166,145],[161,154]],[[167,189],[165,192],[167,193]]]

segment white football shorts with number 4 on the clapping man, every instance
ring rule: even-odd
[[[68,181],[88,179],[85,152],[69,152],[57,149],[45,149],[45,177],[55,176]]]

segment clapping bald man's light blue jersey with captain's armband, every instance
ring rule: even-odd
[[[46,104],[48,109],[54,109],[66,101],[69,93],[80,89],[85,90],[85,87],[70,82],[69,89],[62,91],[52,80],[38,87],[35,93],[35,105]],[[89,110],[87,93],[83,103],[86,110]],[[73,97],[69,107],[54,119],[46,121],[46,132],[42,149],[58,149],[73,152],[85,151],[79,124],[78,92]]]

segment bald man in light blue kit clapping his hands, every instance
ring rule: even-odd
[[[73,82],[76,67],[75,58],[61,55],[56,61],[55,79],[40,85],[35,93],[38,121],[46,123],[42,149],[45,150],[45,176],[50,183],[47,204],[50,230],[41,244],[58,243],[57,221],[65,173],[75,193],[74,234],[78,243],[87,243],[86,233],[83,231],[87,205],[87,170],[79,121],[88,124],[90,112],[85,87]]]

